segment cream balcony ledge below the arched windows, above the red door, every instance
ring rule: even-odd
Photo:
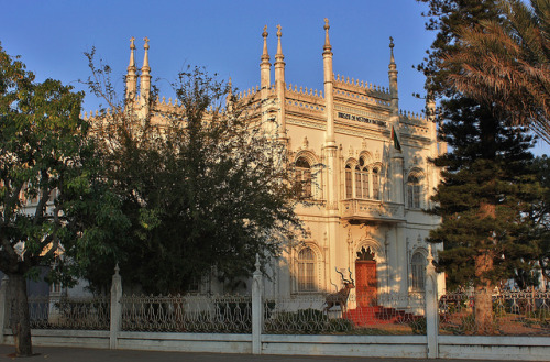
[[[400,222],[405,220],[405,208],[400,204],[380,200],[349,199],[340,202],[340,216],[350,221]]]

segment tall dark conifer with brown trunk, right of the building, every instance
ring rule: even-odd
[[[427,29],[438,31],[419,69],[427,75],[428,91],[441,98],[440,134],[451,146],[450,153],[435,160],[443,167],[443,182],[431,212],[441,216],[442,222],[429,241],[444,244],[438,262],[450,285],[475,287],[477,332],[487,333],[497,281],[526,267],[531,252],[525,238],[529,224],[525,211],[541,191],[529,168],[531,140],[498,105],[458,90],[451,77],[463,72],[462,64],[444,63],[464,50],[461,33],[499,19],[497,1],[419,1],[430,8]]]

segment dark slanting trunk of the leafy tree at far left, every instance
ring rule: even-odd
[[[16,356],[31,356],[31,318],[26,298],[26,279],[21,274],[9,274],[9,306],[11,310],[10,327],[15,341]]]

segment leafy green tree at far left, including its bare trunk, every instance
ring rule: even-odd
[[[16,355],[32,354],[26,278],[89,235],[73,216],[98,199],[84,167],[95,149],[79,118],[82,96],[56,80],[35,83],[0,47],[0,270]]]

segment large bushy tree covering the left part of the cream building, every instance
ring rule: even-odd
[[[96,81],[110,69],[94,66],[92,54],[90,61],[91,88],[113,99],[109,83]],[[235,283],[251,275],[256,253],[277,257],[301,231],[286,151],[268,132],[273,124],[200,68],[182,73],[173,86],[178,107],[151,97],[143,114],[127,100],[95,120],[105,125],[97,134],[108,150],[106,178],[132,223],[124,250],[87,270],[95,288],[109,281],[98,270],[110,273],[114,263],[127,283],[147,293],[186,292],[212,270]]]

